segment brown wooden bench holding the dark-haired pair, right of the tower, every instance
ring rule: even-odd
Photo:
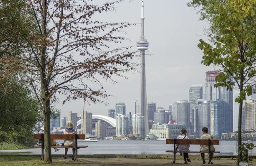
[[[173,163],[176,163],[176,153],[202,153],[201,151],[178,151],[176,150],[176,144],[186,144],[186,145],[208,145],[209,151],[203,152],[209,154],[209,163],[211,164],[210,158],[210,145],[220,145],[220,140],[218,139],[166,139],[166,144],[173,144],[173,150],[166,150],[165,152],[173,153]],[[213,153],[220,153],[220,151],[214,151]]]

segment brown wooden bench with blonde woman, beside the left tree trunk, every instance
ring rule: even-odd
[[[41,148],[42,158],[44,160],[44,134],[34,134],[34,139],[42,140],[42,146],[36,146],[36,148]],[[77,146],[77,139],[85,139],[84,134],[51,134],[52,139],[66,139],[66,140],[75,140],[75,146],[51,146],[51,148],[75,148],[75,160],[77,160],[77,149],[86,148],[88,146]]]

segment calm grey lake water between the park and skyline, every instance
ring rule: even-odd
[[[59,143],[62,140],[58,140]],[[256,145],[256,142],[252,142]],[[165,150],[173,150],[173,145],[166,145],[165,141],[157,140],[99,140],[98,142],[78,142],[78,145],[88,145],[87,148],[79,149],[79,154],[93,155],[93,154],[171,154],[166,153]],[[216,151],[221,154],[237,154],[236,141],[220,141],[220,145],[214,146]],[[190,150],[199,150],[200,145],[190,145]],[[41,154],[40,148],[21,149],[21,150],[0,150],[1,152],[21,152]],[[60,148],[55,152],[52,149],[52,154],[64,154],[64,148]],[[68,154],[72,154],[72,150],[68,150]],[[220,154],[220,155],[221,155]],[[256,148],[252,150],[251,155],[256,155]]]

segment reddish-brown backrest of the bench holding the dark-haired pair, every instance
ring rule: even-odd
[[[208,145],[208,139],[175,139],[175,144]],[[174,139],[166,139],[166,144],[174,144]],[[219,139],[211,139],[211,145],[220,145]]]

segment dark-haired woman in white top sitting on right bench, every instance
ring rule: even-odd
[[[186,129],[182,129],[181,130],[181,134],[177,137],[177,139],[189,139],[188,136],[186,136],[187,131]],[[179,151],[189,151],[189,147],[190,145],[177,145]],[[183,153],[183,158],[184,158],[184,164],[188,164],[188,162],[191,162],[191,160],[189,159],[189,153]],[[188,162],[187,162],[188,161]]]

